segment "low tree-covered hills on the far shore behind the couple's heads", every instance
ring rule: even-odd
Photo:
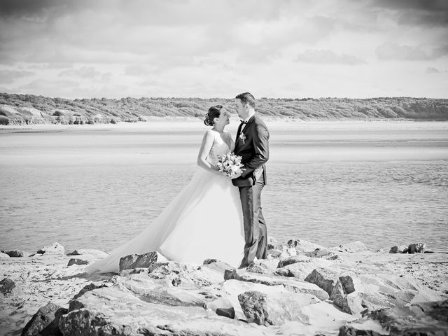
[[[62,99],[0,93],[0,125],[36,123],[92,124],[146,121],[147,117],[203,118],[221,104],[235,113],[234,99],[122,98]],[[257,100],[262,116],[296,120],[448,120],[448,99],[303,98]]]

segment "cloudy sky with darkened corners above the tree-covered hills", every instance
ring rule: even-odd
[[[244,91],[448,98],[448,1],[0,1],[0,92]]]

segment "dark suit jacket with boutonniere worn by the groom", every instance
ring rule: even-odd
[[[239,125],[234,153],[241,156],[241,163],[245,168],[239,178],[232,179],[234,186],[254,186],[255,169],[263,169],[266,183],[265,163],[269,159],[269,131],[257,115],[252,116],[247,125]]]

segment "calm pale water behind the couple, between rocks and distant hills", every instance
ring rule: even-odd
[[[269,235],[448,251],[448,123],[267,126]],[[205,130],[201,121],[0,130],[0,248],[110,251],[186,186]]]

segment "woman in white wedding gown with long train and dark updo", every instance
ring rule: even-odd
[[[230,133],[224,131],[229,116],[222,108],[212,106],[207,112],[204,123],[212,128],[204,134],[199,167],[188,185],[140,235],[88,266],[87,274],[118,272],[120,258],[150,251],[192,265],[216,258],[238,267],[244,253],[239,192],[216,168],[218,156],[235,147]]]

